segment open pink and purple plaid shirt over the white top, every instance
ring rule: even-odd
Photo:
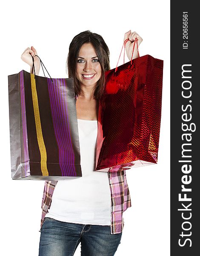
[[[75,100],[77,100],[77,98],[78,96],[75,95]],[[126,168],[121,168],[117,172],[108,172],[108,179],[111,192],[111,234],[117,234],[123,230],[123,212],[126,211],[128,207],[131,207],[129,187],[126,181]],[[57,180],[45,181],[40,230],[42,228],[45,215],[51,206],[51,199],[57,182]]]

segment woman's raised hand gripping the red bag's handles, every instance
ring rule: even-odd
[[[135,38],[137,38],[137,42],[135,42],[135,48],[134,48],[134,52],[133,52]],[[137,45],[139,47],[139,45],[141,44],[143,39],[136,32],[131,32],[131,30],[129,30],[128,32],[125,33],[124,41],[126,39],[129,39],[129,41],[127,41],[127,43],[125,45],[126,54],[129,58],[129,60],[131,60],[132,52],[133,52],[132,59],[139,57],[138,53],[137,53]]]

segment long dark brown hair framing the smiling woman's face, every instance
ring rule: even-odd
[[[74,79],[74,91],[75,95],[81,95],[81,87],[79,81],[76,77],[77,70],[77,60],[80,52],[80,48],[83,44],[91,43],[94,47],[94,50],[97,54],[101,65],[101,77],[94,88],[94,99],[99,100],[103,94],[104,86],[105,86],[105,71],[110,70],[110,61],[109,61],[109,48],[106,45],[101,35],[96,33],[92,33],[90,30],[81,32],[76,35],[69,45],[69,54],[67,57],[67,67],[68,67],[68,75],[69,78]]]

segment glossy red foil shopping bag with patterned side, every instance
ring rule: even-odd
[[[157,163],[163,60],[145,55],[105,73],[99,102],[96,169]],[[138,163],[138,161],[137,161]]]

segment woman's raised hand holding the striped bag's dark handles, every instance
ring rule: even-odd
[[[40,71],[40,59],[37,56],[35,56],[35,55],[37,55],[37,51],[33,46],[31,46],[31,48],[28,47],[28,48],[25,49],[25,51],[21,55],[21,59],[24,62],[26,62],[27,64],[29,64],[29,66],[31,66],[30,73],[32,73],[33,59],[31,57],[31,55],[34,58],[35,74],[38,75],[39,71]]]

